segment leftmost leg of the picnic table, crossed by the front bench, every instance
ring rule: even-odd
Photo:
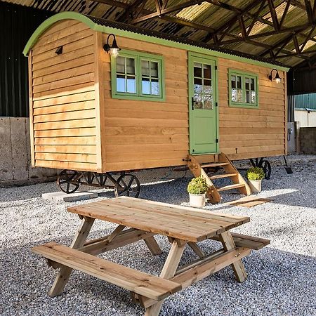
[[[88,237],[88,234],[91,230],[93,223],[94,223],[94,218],[84,217],[81,220],[79,229],[76,235],[74,235],[74,239],[72,240],[72,244],[70,245],[70,248],[77,249],[81,246],[84,246],[84,242],[86,242],[86,238]],[[60,295],[62,291],[65,289],[65,285],[67,284],[67,281],[71,273],[72,273],[72,268],[69,268],[69,267],[60,268],[58,275],[56,276],[55,281],[53,283],[53,286],[51,287],[51,290],[48,292],[48,295],[51,297]]]

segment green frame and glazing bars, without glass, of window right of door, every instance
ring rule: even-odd
[[[235,77],[235,87],[232,87],[232,77]],[[238,86],[237,78],[240,78],[240,86]],[[246,88],[246,79],[249,80],[249,88]],[[254,88],[251,89],[251,80],[254,81]],[[232,100],[232,89],[236,91],[236,98],[238,91],[240,91],[242,101]],[[246,91],[249,92],[250,102],[246,102]],[[252,72],[244,72],[243,70],[236,70],[230,68],[228,70],[228,93],[230,107],[246,107],[249,109],[258,109],[259,107],[259,79],[258,74]],[[255,93],[254,103],[251,103],[251,93]]]

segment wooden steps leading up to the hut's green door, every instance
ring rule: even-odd
[[[210,189],[206,193],[211,203],[220,202],[220,192],[226,190],[237,189],[242,195],[251,195],[251,189],[246,183],[246,180],[237,171],[230,159],[223,153],[220,154],[201,154],[187,157],[187,166],[192,171],[195,177],[203,176],[209,184]],[[223,173],[214,176],[208,176],[207,169],[223,169]],[[230,178],[231,185],[224,187],[216,187],[213,181],[220,178]]]

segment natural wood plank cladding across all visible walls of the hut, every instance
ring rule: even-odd
[[[112,98],[107,34],[63,20],[41,35],[29,54],[32,162],[79,171],[124,171],[186,164],[189,152],[187,51],[117,37],[121,48],[159,54],[164,60],[165,100]],[[62,54],[55,49],[62,46]],[[229,107],[228,69],[245,64],[218,58],[220,152],[230,159],[286,152],[285,84],[258,75],[258,107]],[[285,74],[280,72],[281,77]]]

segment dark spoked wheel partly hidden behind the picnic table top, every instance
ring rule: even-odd
[[[124,174],[117,179],[114,187],[115,197],[138,197],[140,193],[140,183],[136,176]]]

